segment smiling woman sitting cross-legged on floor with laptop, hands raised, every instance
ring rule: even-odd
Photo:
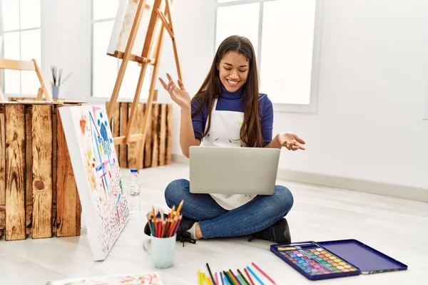
[[[181,108],[180,147],[186,157],[192,145],[305,150],[305,141],[295,134],[280,133],[272,139],[272,103],[259,93],[255,52],[248,38],[225,38],[192,100],[180,80],[177,87],[169,74],[167,77],[168,83],[159,80]],[[290,242],[284,217],[293,197],[286,187],[275,186],[271,196],[203,195],[190,193],[188,180],[170,182],[165,190],[168,207],[182,199],[183,220],[177,232],[182,242],[249,234],[250,240]],[[145,232],[150,234],[148,227]]]

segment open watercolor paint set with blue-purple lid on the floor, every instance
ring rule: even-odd
[[[270,251],[310,280],[407,269],[406,264],[356,239],[272,244]]]

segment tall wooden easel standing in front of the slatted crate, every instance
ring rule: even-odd
[[[161,11],[162,4],[165,4],[164,12]],[[128,38],[128,43],[126,44],[125,52],[122,53],[120,51],[116,51],[114,54],[108,54],[109,56],[114,56],[116,58],[122,58],[121,67],[118,71],[118,77],[116,79],[116,84],[113,88],[113,94],[111,95],[111,100],[107,105],[107,113],[108,119],[111,120],[113,116],[113,108],[118,99],[119,90],[121,89],[121,84],[123,81],[123,76],[125,75],[126,66],[128,65],[128,61],[136,61],[141,64],[141,72],[140,77],[138,78],[138,84],[136,88],[136,94],[133,98],[133,103],[131,105],[131,115],[128,118],[128,125],[126,125],[125,135],[113,138],[115,145],[128,144],[130,142],[140,142],[138,145],[138,157],[137,157],[137,165],[141,164],[141,160],[143,159],[143,148],[146,142],[146,133],[148,132],[148,125],[150,125],[151,120],[151,112],[152,112],[152,102],[153,102],[153,94],[155,92],[156,78],[158,74],[159,68],[159,59],[161,58],[161,48],[163,43],[163,31],[166,29],[168,31],[172,41],[173,41],[173,49],[175,56],[175,65],[177,67],[178,78],[181,78],[180,71],[180,63],[178,61],[178,52],[177,46],[175,44],[175,36],[173,33],[173,21],[171,18],[171,4],[170,0],[154,0],[153,9],[151,11],[151,19],[148,24],[148,30],[146,33],[146,39],[143,45],[143,51],[141,56],[131,54],[133,44],[136,39],[136,34],[138,32],[138,26],[141,22],[141,16],[143,14],[144,9],[147,8],[146,0],[140,0],[138,3],[138,9],[136,11],[136,16],[133,21],[133,26],[131,28],[131,33]],[[168,18],[168,20],[167,20]],[[159,21],[161,21],[159,23]],[[161,28],[158,29],[158,34],[156,35],[156,26],[161,24]],[[157,45],[153,45],[153,41],[155,37],[158,37]],[[156,48],[156,49],[153,49]],[[154,51],[153,58],[150,58],[151,53]],[[148,100],[146,112],[144,113],[143,119],[143,133],[136,133],[131,135],[131,125],[133,123],[133,119],[136,115],[136,110],[138,107],[138,102],[140,99],[141,87],[143,86],[144,76],[146,74],[147,66],[151,64],[154,66],[153,74],[151,78],[151,84],[149,88]]]

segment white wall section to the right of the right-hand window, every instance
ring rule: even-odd
[[[307,140],[280,167],[428,190],[425,0],[328,0],[315,115],[275,113]]]

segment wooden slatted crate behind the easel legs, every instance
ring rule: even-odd
[[[111,119],[113,137],[125,135],[128,118],[131,115],[131,104],[127,102],[118,102],[115,104]],[[143,118],[146,108],[146,103],[138,103],[131,134],[143,133]],[[128,145],[116,145],[118,161],[121,167],[143,169],[158,165],[169,165],[171,163],[173,105],[153,103],[151,122],[149,123],[150,127],[144,145],[142,164],[137,165],[138,142],[131,142]]]

